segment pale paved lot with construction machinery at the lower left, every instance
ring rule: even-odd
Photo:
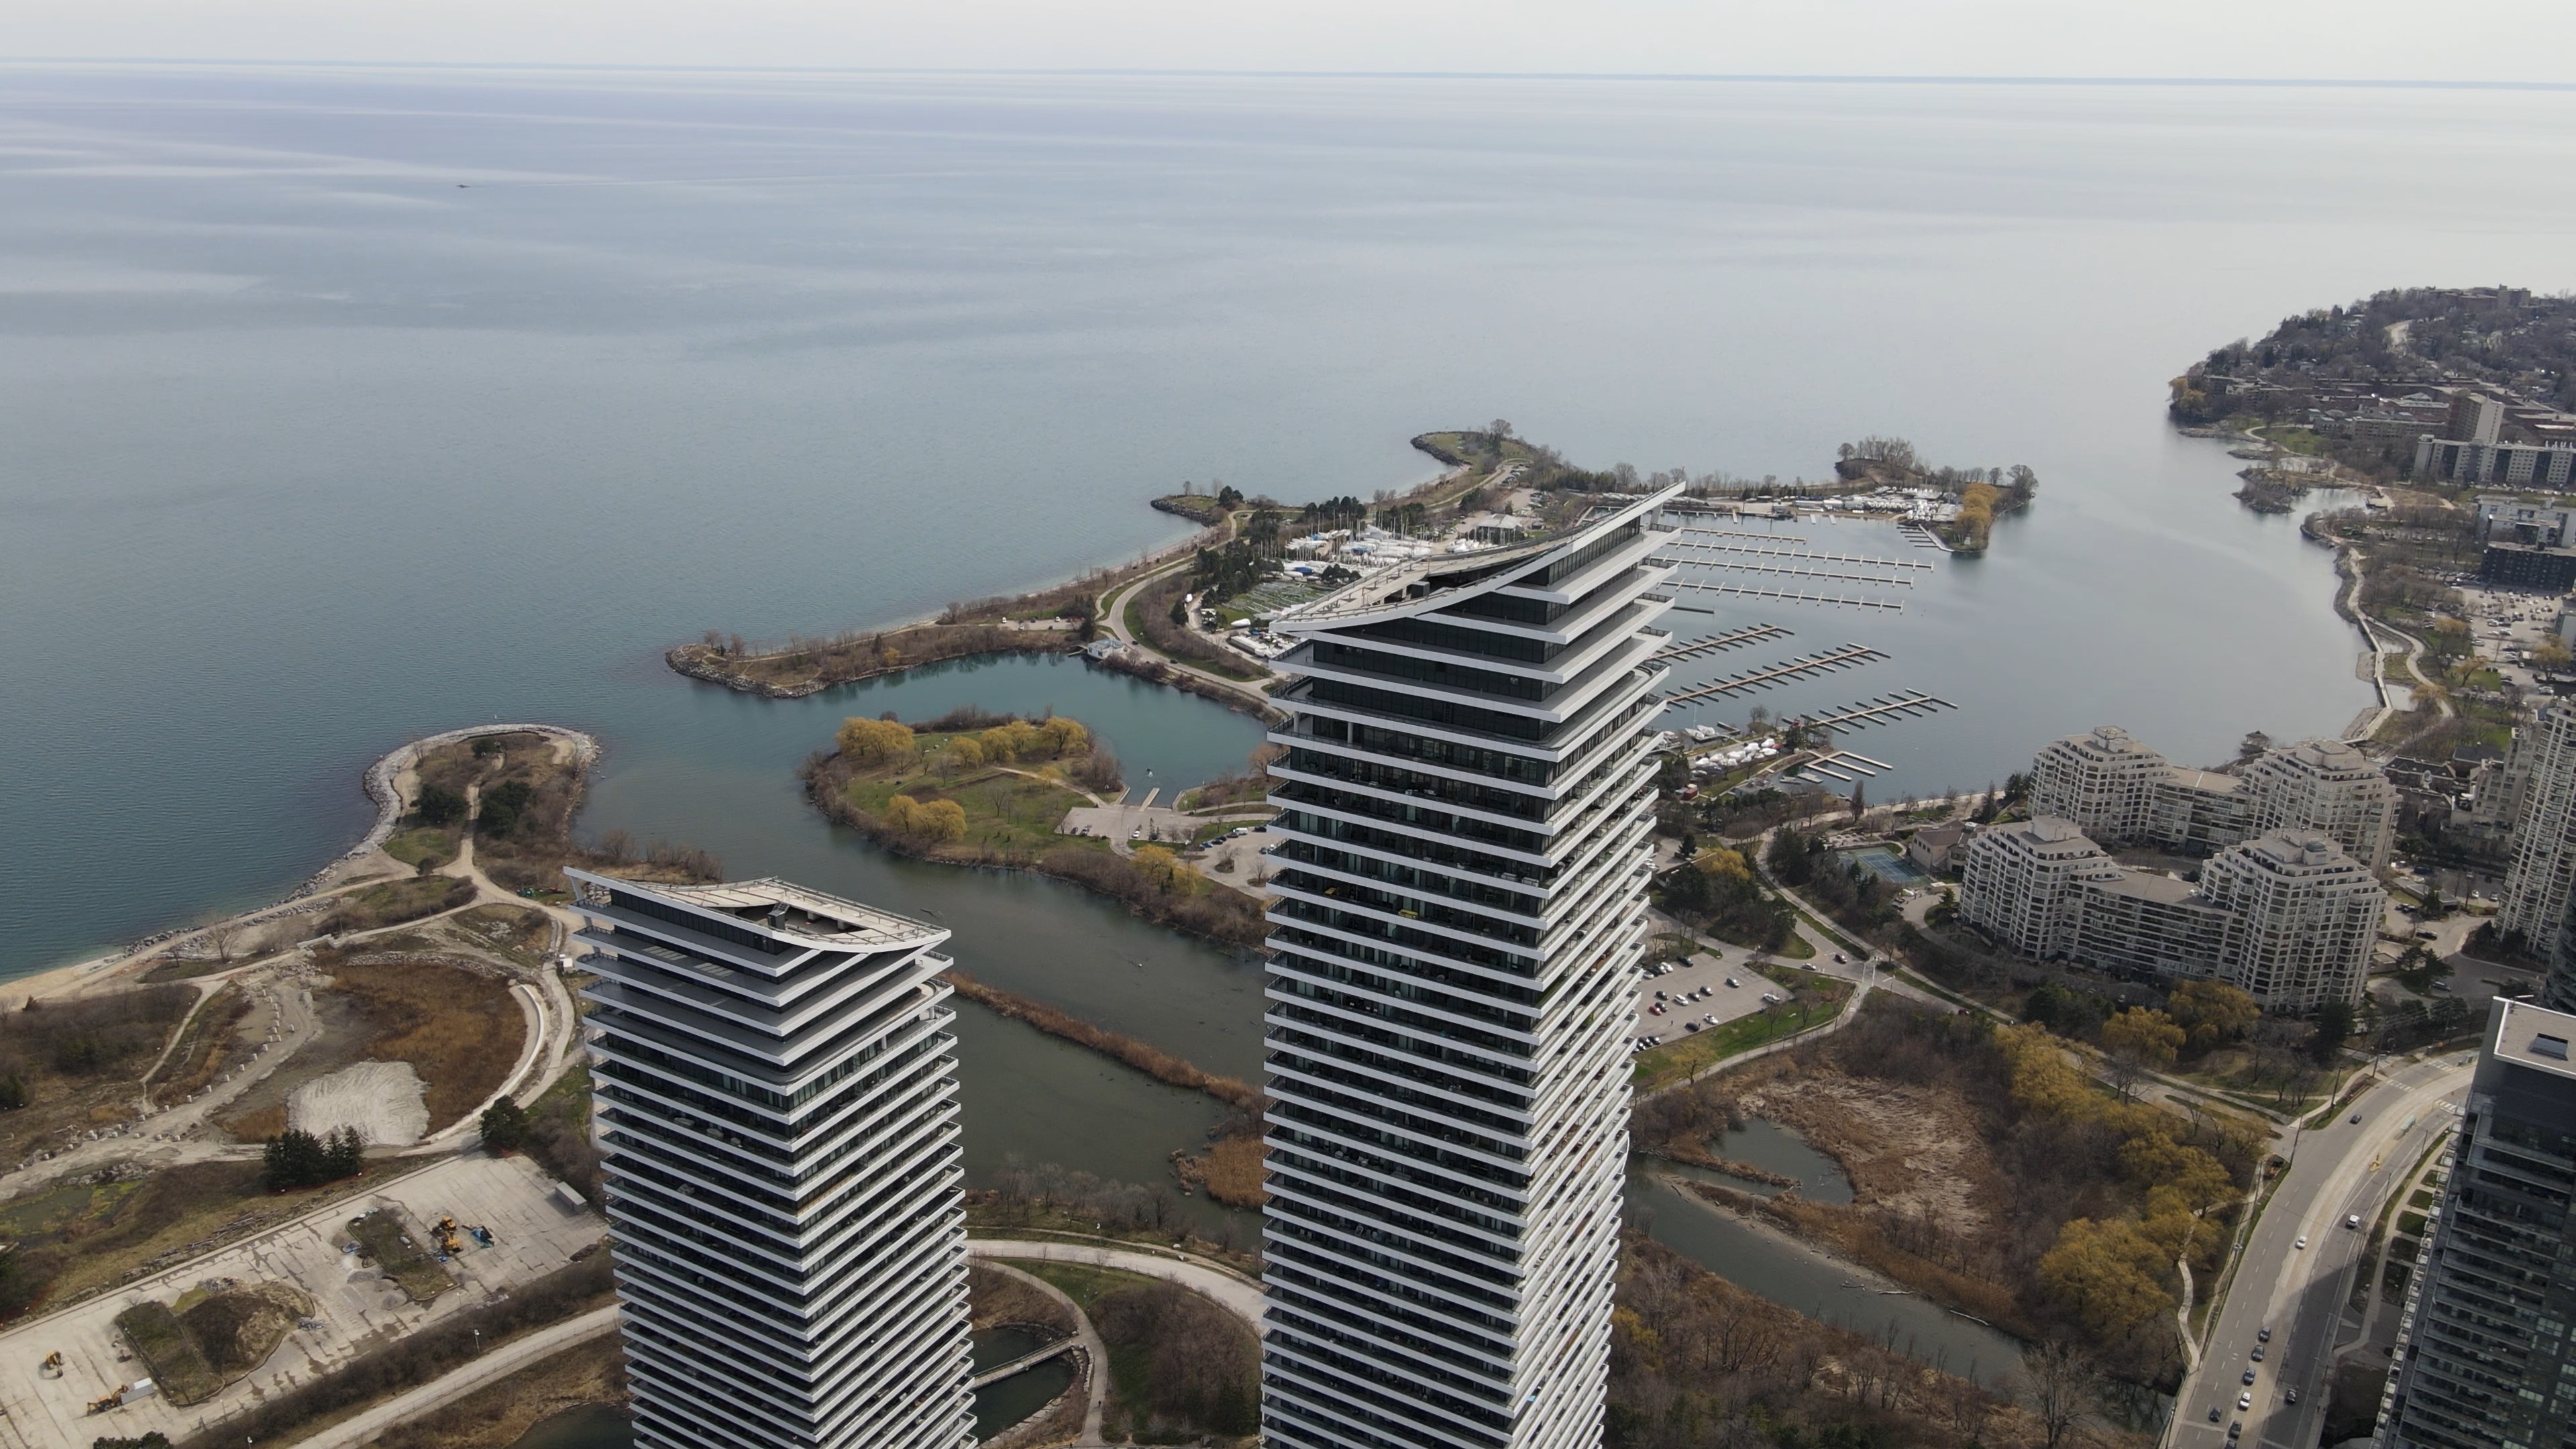
[[[415,1305],[381,1271],[343,1250],[350,1240],[348,1220],[374,1209],[399,1212],[415,1240],[425,1240],[440,1214],[456,1214],[489,1227],[492,1245],[471,1243],[446,1263],[456,1287]],[[482,1307],[518,1284],[551,1274],[577,1250],[600,1243],[605,1232],[608,1225],[598,1214],[556,1199],[554,1178],[526,1158],[479,1152],[451,1158],[247,1243],[0,1333],[0,1446],[62,1449],[106,1434],[142,1439],[152,1431],[188,1439],[422,1323]],[[118,1356],[126,1346],[116,1315],[144,1299],[173,1302],[222,1279],[294,1284],[312,1297],[312,1318],[304,1320],[307,1328],[289,1333],[265,1364],[206,1403],[180,1408],[162,1395],[147,1395],[108,1413],[88,1413],[90,1400],[149,1372],[142,1359]],[[62,1369],[44,1369],[44,1356],[57,1351]]]

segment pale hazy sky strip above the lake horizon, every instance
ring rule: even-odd
[[[0,0],[5,57],[2563,83],[2568,0]]]

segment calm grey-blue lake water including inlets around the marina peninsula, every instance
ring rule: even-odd
[[[1118,562],[1185,534],[1144,508],[1182,480],[1368,498],[1432,472],[1412,433],[1494,415],[1587,464],[1783,480],[1899,433],[2027,462],[2040,500],[1899,616],[1680,616],[1795,629],[1682,683],[1888,650],[1759,696],[1958,701],[1847,740],[1896,766],[1880,799],[2097,722],[2213,761],[2367,691],[2329,557],[2228,500],[2164,382],[2380,286],[2576,286],[2561,93],[0,77],[0,977],[276,897],[407,735],[551,719],[608,748],[585,830],[922,913],[987,980],[1252,1073],[1249,962],[884,859],[791,779],[845,714],[974,701],[1180,786],[1249,719],[1061,660],[757,701],[659,650]],[[979,1178],[1157,1181],[1216,1122],[976,1008],[963,1039]]]

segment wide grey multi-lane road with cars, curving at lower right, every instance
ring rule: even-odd
[[[2166,1444],[2221,1449],[2228,1426],[2241,1421],[2241,1449],[2316,1446],[2334,1341],[2370,1225],[2416,1158],[2458,1122],[2473,1062],[2476,1052],[2452,1052],[2401,1067],[2329,1127],[2293,1129],[2290,1168],[2254,1225],[2200,1369],[2182,1379]],[[2344,1227],[2352,1214],[2362,1217],[2360,1230]],[[2306,1248],[2298,1248],[2300,1238]],[[2272,1341],[2257,1364],[2262,1328],[2272,1330]],[[2254,1372],[2251,1385],[2244,1382],[2246,1369]],[[2287,1403],[2290,1390],[2298,1392],[2295,1405]],[[2239,1410],[2239,1395],[2251,1395],[2251,1408]],[[2221,1410],[2215,1423],[2210,1408]]]

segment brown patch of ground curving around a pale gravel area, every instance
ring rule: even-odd
[[[518,1065],[528,1034],[510,982],[446,962],[325,964],[319,1034],[219,1119],[245,1142],[286,1127],[286,1098],[355,1062],[410,1062],[428,1083],[422,1134],[479,1109]]]

